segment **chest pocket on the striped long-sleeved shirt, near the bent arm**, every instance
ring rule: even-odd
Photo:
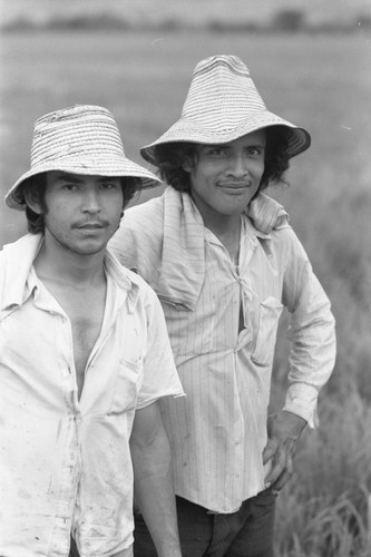
[[[269,365],[273,362],[282,310],[282,303],[273,296],[266,297],[260,303],[256,343],[252,354],[252,360],[257,365]]]

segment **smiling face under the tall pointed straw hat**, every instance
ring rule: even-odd
[[[264,173],[265,130],[222,145],[198,145],[187,159],[191,195],[205,224],[241,215],[256,194]]]

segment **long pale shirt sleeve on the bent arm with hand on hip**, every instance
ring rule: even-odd
[[[289,390],[284,409],[319,426],[316,401],[335,362],[335,321],[330,301],[292,232],[284,277],[285,305],[291,312]]]

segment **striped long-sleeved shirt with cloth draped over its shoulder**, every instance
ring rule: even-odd
[[[242,215],[237,266],[191,197],[173,188],[128,209],[110,247],[163,303],[186,392],[163,403],[176,492],[211,511],[233,512],[264,489],[282,310],[291,313],[292,341],[284,409],[314,427],[335,355],[330,302],[286,213],[262,194]]]

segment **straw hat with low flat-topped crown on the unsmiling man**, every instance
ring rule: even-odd
[[[154,174],[125,156],[121,137],[111,113],[91,105],[64,108],[36,120],[31,168],[6,195],[8,207],[25,211],[25,182],[48,170],[136,177],[141,178],[143,187],[159,183]]]

